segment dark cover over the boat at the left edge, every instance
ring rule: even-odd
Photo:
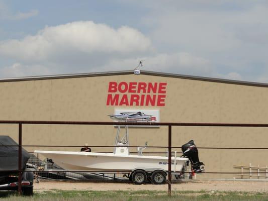
[[[0,135],[0,170],[19,169],[19,147],[8,147],[3,145],[18,145],[10,136]],[[30,154],[22,148],[22,169],[25,169]]]

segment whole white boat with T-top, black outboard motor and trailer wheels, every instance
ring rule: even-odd
[[[145,115],[142,112],[120,113],[120,115],[109,116],[117,122],[149,122],[151,120],[150,115]],[[168,170],[168,157],[143,155],[142,151],[146,148],[147,143],[144,146],[137,147],[137,154],[130,154],[128,125],[123,127],[125,127],[125,133],[120,139],[121,125],[118,125],[113,153],[40,150],[34,152],[44,155],[69,171],[128,172],[127,177],[135,184],[142,184],[146,181],[151,181],[154,184],[164,183]],[[176,152],[171,157],[171,171],[173,174],[182,175],[182,171],[189,160],[194,171],[201,172],[200,166],[203,163],[199,162],[194,141],[185,144],[183,152],[186,154],[182,157],[177,157]]]

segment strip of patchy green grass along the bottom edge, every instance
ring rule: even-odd
[[[225,192],[225,191],[172,191],[169,197],[166,191],[142,190],[142,191],[82,191],[82,190],[51,190],[35,192],[32,197],[20,197],[17,192],[0,192],[0,200],[5,201],[84,201],[84,200],[268,200],[268,193],[262,192]]]

